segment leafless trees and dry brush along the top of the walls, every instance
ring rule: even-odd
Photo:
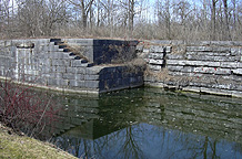
[[[242,0],[0,0],[1,39],[242,40]]]

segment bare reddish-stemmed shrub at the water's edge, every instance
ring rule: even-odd
[[[16,84],[11,80],[0,81],[0,121],[33,135],[57,119],[51,97],[37,94],[31,86]]]

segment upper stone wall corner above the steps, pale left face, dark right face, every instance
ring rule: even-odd
[[[122,57],[135,57],[138,41],[63,39],[70,46],[75,47],[94,65],[109,64]]]

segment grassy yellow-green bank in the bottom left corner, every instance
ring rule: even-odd
[[[19,136],[0,123],[0,158],[74,159],[75,157],[54,148],[48,142]]]

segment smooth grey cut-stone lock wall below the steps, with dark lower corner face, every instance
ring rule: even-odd
[[[85,44],[83,52],[95,57],[92,52],[93,40],[74,40],[73,43],[77,45],[78,42]],[[98,65],[110,63],[114,56],[107,62],[105,59],[102,62],[97,59],[93,62],[87,61],[64,47],[65,43],[60,39],[0,41],[0,76],[33,83],[40,87],[80,93],[109,92],[143,84],[142,73],[128,72],[124,66],[111,68]],[[117,41],[113,46],[115,43]],[[99,52],[105,53],[105,49],[100,47]],[[127,76],[120,72],[120,67]]]

